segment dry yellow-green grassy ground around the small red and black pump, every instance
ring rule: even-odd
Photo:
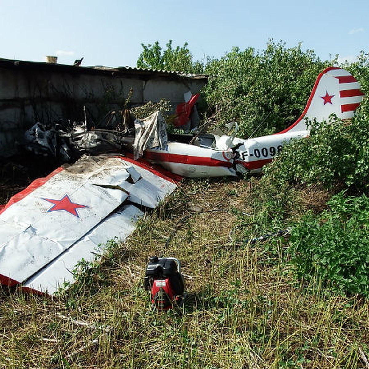
[[[295,280],[286,237],[246,241],[257,184],[183,183],[57,298],[0,289],[0,367],[369,368],[368,301]],[[317,196],[301,191],[299,211]],[[181,311],[151,308],[152,255],[182,262]]]

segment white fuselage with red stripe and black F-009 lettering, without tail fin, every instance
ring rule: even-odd
[[[251,139],[214,136],[215,146],[168,142],[165,149],[147,149],[145,159],[184,177],[235,176],[259,172],[292,138],[302,138],[308,131],[286,132]],[[237,149],[232,149],[237,147]]]

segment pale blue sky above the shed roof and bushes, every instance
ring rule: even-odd
[[[141,43],[188,42],[197,60],[268,39],[302,42],[321,59],[369,52],[369,1],[0,0],[0,57],[85,66],[132,66]]]

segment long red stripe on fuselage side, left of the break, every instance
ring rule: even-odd
[[[204,165],[204,166],[224,166],[226,168],[232,167],[232,163],[223,160],[204,158],[203,156],[170,154],[169,152],[160,152],[160,151],[157,152],[145,151],[145,158],[148,160],[167,163],[181,163],[181,164]]]

